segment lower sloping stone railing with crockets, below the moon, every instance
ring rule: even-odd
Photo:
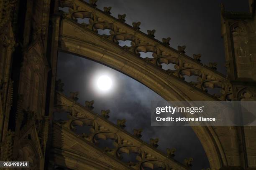
[[[150,139],[150,143],[143,142],[141,129],[134,129],[134,134],[123,130],[126,120],[118,120],[117,125],[108,121],[109,110],[102,110],[101,115],[92,112],[91,102],[85,106],[76,102],[77,96],[71,93],[71,98],[57,92],[56,112],[67,113],[68,120],[56,120],[62,127],[68,128],[105,153],[127,163],[128,167],[143,170],[161,168],[163,170],[190,169],[192,158],[184,160],[184,164],[174,160],[175,149],[167,149],[167,155],[156,150],[158,138]]]

